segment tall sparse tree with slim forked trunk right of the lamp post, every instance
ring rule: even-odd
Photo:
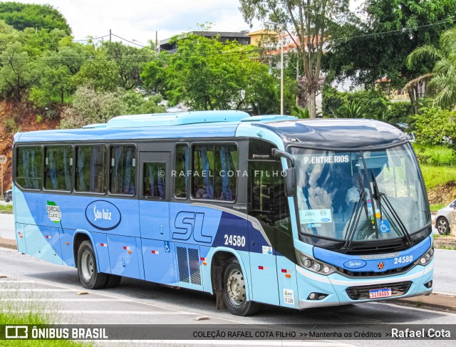
[[[309,113],[316,117],[316,95],[326,38],[334,21],[348,14],[348,0],[240,0],[245,21],[272,21],[285,29],[299,48],[309,91]],[[291,29],[288,27],[291,26]]]

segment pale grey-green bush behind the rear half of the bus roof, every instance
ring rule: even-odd
[[[106,123],[116,115],[165,112],[163,106],[157,105],[158,102],[160,97],[145,99],[139,93],[123,88],[104,91],[81,86],[74,93],[71,106],[63,112],[60,128]]]

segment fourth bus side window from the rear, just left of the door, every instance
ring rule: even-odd
[[[110,193],[135,194],[135,146],[113,146],[110,156]]]

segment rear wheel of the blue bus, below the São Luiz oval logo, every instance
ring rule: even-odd
[[[78,249],[79,281],[87,289],[103,288],[108,281],[108,274],[98,272],[95,252],[90,241],[84,241]]]

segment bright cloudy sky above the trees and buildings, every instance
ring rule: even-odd
[[[50,4],[68,21],[75,40],[105,36],[109,29],[142,45],[170,38],[211,22],[214,31],[250,31],[239,11],[239,0],[15,0]],[[261,29],[256,23],[252,30]],[[113,38],[113,40],[118,38]],[[138,42],[137,42],[138,43]]]

